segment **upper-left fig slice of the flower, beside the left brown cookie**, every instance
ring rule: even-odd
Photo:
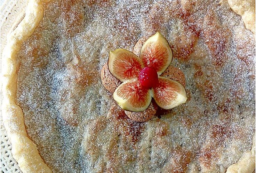
[[[125,49],[110,51],[107,64],[110,73],[122,82],[137,78],[144,67],[138,56]]]

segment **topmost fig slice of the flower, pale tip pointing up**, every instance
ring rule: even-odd
[[[173,60],[171,47],[159,32],[145,42],[139,56],[146,67],[153,67],[159,75],[167,69]]]

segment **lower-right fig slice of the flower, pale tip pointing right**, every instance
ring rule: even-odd
[[[172,109],[187,100],[182,84],[168,78],[159,77],[158,85],[152,91],[155,102],[163,109]]]

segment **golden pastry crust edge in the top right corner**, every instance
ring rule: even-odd
[[[227,0],[229,6],[240,15],[245,27],[255,33],[255,1],[254,0]]]

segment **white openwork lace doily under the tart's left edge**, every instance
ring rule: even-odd
[[[3,4],[1,4],[1,58],[3,48],[6,45],[6,36],[11,26],[13,26],[19,12],[24,9],[24,6],[25,0],[6,0]],[[2,65],[3,64],[1,63],[1,67]],[[18,163],[16,162],[16,160],[14,160],[11,154],[11,143],[6,134],[5,127],[3,126],[1,111],[1,173],[2,172],[21,173],[22,171],[19,169]]]

